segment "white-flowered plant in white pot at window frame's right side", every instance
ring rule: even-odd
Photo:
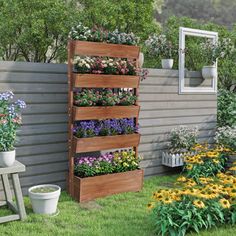
[[[228,38],[222,41],[213,42],[208,39],[201,44],[201,53],[206,59],[206,66],[202,67],[202,77],[204,79],[213,79],[217,77],[216,62],[218,59],[225,58],[229,53],[232,53],[234,46]]]

